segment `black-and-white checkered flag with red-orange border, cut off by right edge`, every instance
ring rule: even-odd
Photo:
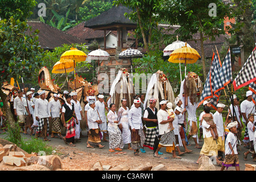
[[[256,48],[256,47],[255,47]],[[237,77],[233,81],[234,90],[250,84],[250,82],[256,81],[256,50],[251,52],[251,55],[246,60],[242,69],[238,73]]]

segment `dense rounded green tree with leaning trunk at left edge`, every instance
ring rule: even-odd
[[[14,19],[2,19],[0,21],[0,86],[3,82],[15,80],[20,77],[30,77],[37,67],[40,67],[40,56],[43,49],[40,48],[38,30],[26,35],[27,30],[31,31],[26,21]],[[11,126],[14,126],[13,115],[6,102],[6,94],[0,89],[0,97],[3,100],[3,107],[7,112],[7,119]]]

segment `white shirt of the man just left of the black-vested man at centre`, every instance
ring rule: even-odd
[[[131,129],[142,129],[142,111],[141,107],[133,107],[128,112],[128,118],[129,118],[129,125],[131,126]]]

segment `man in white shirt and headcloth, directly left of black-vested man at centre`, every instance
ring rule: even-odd
[[[128,112],[129,125],[131,127],[131,148],[134,149],[134,155],[139,155],[139,148],[143,148],[146,140],[142,124],[141,99],[134,99],[134,107]]]

